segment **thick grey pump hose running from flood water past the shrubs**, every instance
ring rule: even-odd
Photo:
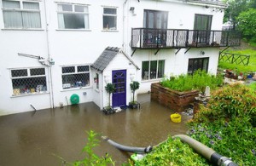
[[[236,163],[232,162],[230,158],[224,157],[218,152],[212,150],[208,146],[203,145],[201,142],[189,137],[188,135],[174,135],[172,138],[179,138],[182,142],[187,143],[195,152],[205,157],[208,161],[218,166],[238,166]],[[107,136],[102,136],[102,140],[108,141],[108,143],[121,151],[125,152],[136,152],[136,153],[148,153],[151,152],[155,147],[160,146],[148,146],[148,147],[133,147],[133,146],[123,146],[110,140]]]

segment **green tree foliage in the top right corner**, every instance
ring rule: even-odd
[[[256,42],[256,9],[248,9],[241,12],[236,18],[238,29],[249,41]]]

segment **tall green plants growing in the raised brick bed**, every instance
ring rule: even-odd
[[[216,89],[218,86],[222,85],[223,77],[220,75],[209,75],[206,71],[199,70],[193,75],[179,75],[178,77],[170,78],[165,77],[160,83],[166,88],[178,91],[198,89],[203,92],[207,86],[211,89]]]

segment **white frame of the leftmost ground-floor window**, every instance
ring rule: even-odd
[[[31,70],[32,69],[44,69],[44,74],[38,74],[38,75],[31,75]],[[14,69],[9,69],[10,70],[10,79],[12,82],[12,89],[13,89],[13,96],[17,96],[17,95],[28,95],[28,94],[43,94],[43,93],[49,93],[49,89],[48,89],[48,80],[46,77],[46,68],[45,67],[29,67],[29,68],[14,68]],[[13,77],[12,76],[12,71],[17,71],[17,70],[26,70],[27,75],[26,76],[16,76]],[[15,89],[13,87],[13,80],[14,79],[22,79],[22,78],[34,78],[34,77],[45,77],[45,85],[46,85],[46,89],[44,90],[42,86],[37,86],[31,89],[27,89],[26,92],[20,92],[20,89]],[[24,85],[25,86],[25,85]]]

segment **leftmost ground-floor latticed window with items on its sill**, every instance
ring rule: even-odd
[[[13,95],[38,94],[47,91],[45,68],[11,70]]]

